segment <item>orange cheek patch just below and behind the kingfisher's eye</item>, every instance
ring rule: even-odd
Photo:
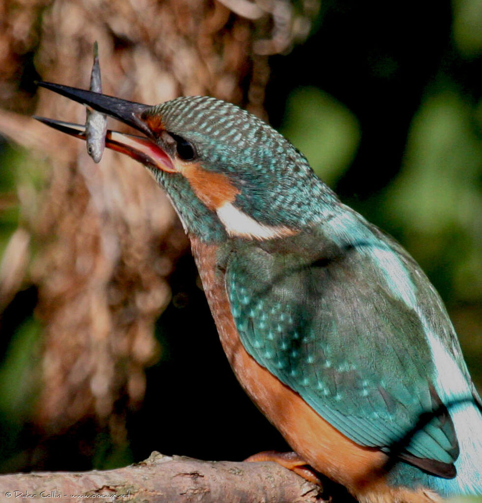
[[[187,178],[196,196],[211,210],[224,203],[232,203],[239,190],[222,173],[204,170],[197,163],[176,162],[176,167]]]

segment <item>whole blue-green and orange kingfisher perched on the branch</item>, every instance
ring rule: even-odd
[[[38,85],[142,133],[108,130],[106,147],[176,209],[227,359],[294,451],[274,460],[361,503],[482,494],[482,401],[441,298],[287,139],[211,97],[148,106]]]

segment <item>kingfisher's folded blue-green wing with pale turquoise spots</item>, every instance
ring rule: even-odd
[[[415,283],[397,278],[400,268],[417,266],[390,241],[332,242],[313,254],[312,235],[297,239],[283,249],[260,243],[232,254],[226,288],[240,340],[344,435],[389,451],[422,412],[440,406],[424,324],[407,302],[408,295],[436,294],[418,271],[403,272]],[[419,430],[404,455],[434,460],[429,471],[443,475],[446,467],[437,464],[451,466],[458,455],[449,416]]]

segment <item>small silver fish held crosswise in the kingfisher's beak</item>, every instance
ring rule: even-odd
[[[101,67],[99,65],[99,49],[94,43],[94,64],[91,73],[91,91],[102,93]],[[106,146],[107,117],[100,112],[87,108],[86,143],[87,153],[100,162]]]

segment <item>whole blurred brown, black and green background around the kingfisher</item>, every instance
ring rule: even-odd
[[[446,301],[482,386],[477,0],[0,0],[0,470],[286,446],[235,382],[182,228],[140,165],[36,78],[155,104],[211,95],[280,129]],[[122,129],[112,122],[110,127]]]

